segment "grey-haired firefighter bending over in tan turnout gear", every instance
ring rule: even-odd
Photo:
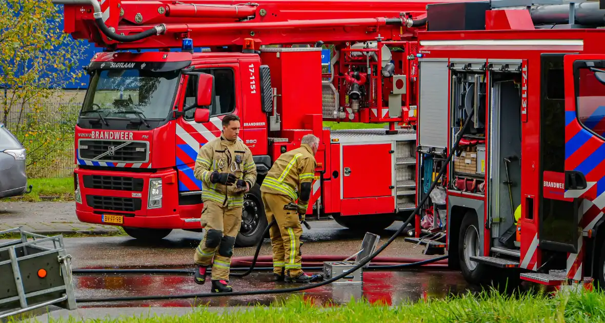
[[[310,282],[318,278],[302,271],[300,254],[301,222],[307,213],[311,184],[315,177],[315,154],[319,138],[308,134],[301,146],[281,154],[275,160],[261,185],[261,195],[267,221],[275,218],[269,229],[273,249],[273,274],[286,282]],[[298,200],[298,207],[289,207]]]

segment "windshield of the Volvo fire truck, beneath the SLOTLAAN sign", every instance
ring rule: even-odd
[[[91,79],[82,116],[127,119],[165,119],[177,86],[178,71],[138,69],[96,71]]]

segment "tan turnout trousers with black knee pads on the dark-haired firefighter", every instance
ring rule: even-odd
[[[194,263],[200,266],[212,264],[212,280],[229,281],[229,267],[235,237],[240,232],[242,207],[227,209],[215,201],[204,201],[200,223],[206,234],[195,249]]]

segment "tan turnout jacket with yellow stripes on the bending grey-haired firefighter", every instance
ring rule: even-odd
[[[298,199],[301,184],[312,182],[315,178],[317,163],[309,145],[303,144],[299,148],[281,154],[261,185],[261,192],[284,195],[290,202]],[[310,198],[309,198],[310,200]],[[307,207],[307,201],[298,201],[300,207]]]

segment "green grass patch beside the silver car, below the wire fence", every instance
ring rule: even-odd
[[[28,178],[27,184],[33,185],[31,192],[18,197],[5,198],[0,201],[41,201],[40,197],[53,197],[53,200],[73,201],[74,179],[64,178]]]

